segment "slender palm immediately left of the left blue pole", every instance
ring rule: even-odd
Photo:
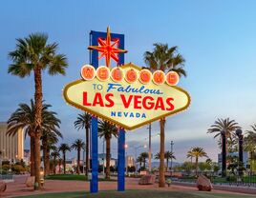
[[[89,129],[91,127],[92,116],[89,113],[84,112],[78,114],[75,120],[75,129],[85,129],[86,141],[85,141],[85,175],[88,175],[89,170]]]

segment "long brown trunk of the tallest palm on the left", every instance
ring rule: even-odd
[[[35,188],[40,187],[40,165],[41,165],[41,156],[40,156],[40,138],[41,138],[41,124],[42,124],[42,100],[43,100],[43,92],[42,92],[42,76],[41,69],[37,65],[34,69],[34,169],[35,169],[35,183],[38,185],[34,186]]]

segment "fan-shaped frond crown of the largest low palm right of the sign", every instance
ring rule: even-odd
[[[231,150],[234,146],[236,129],[241,128],[238,126],[238,123],[236,123],[235,120],[230,120],[229,118],[218,118],[217,121],[215,121],[214,124],[210,127],[210,129],[208,129],[207,133],[214,133],[214,138],[220,137],[221,140],[221,134],[222,131],[224,131],[227,140],[227,148]],[[219,145],[222,145],[222,141],[219,141]]]

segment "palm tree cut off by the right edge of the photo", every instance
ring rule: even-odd
[[[250,127],[251,130],[246,130],[244,146],[245,150],[248,151],[250,155],[250,170],[252,171],[255,162],[254,152],[256,151],[256,125]]]

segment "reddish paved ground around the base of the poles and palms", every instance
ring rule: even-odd
[[[65,191],[89,191],[90,183],[85,181],[63,181],[63,180],[46,180],[45,186],[41,190],[34,191],[32,188],[27,188],[25,180],[27,176],[18,175],[14,177],[14,182],[8,184],[7,191],[1,197],[14,197],[22,195],[43,194],[49,192],[65,192]],[[126,189],[153,189],[153,190],[168,190],[168,191],[198,191],[195,187],[171,185],[171,187],[159,188],[158,184],[139,186],[139,179],[126,178]],[[117,190],[117,182],[99,182],[99,190]],[[214,189],[214,192],[230,193],[229,191]],[[232,193],[232,192],[231,192]],[[240,194],[233,192],[235,194]]]

